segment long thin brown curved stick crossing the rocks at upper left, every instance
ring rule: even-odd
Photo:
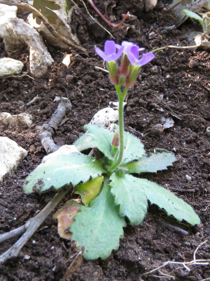
[[[55,36],[56,38],[58,38],[59,40],[61,40],[64,44],[74,47],[76,49],[79,49],[80,51],[82,51],[83,53],[85,53],[87,55],[87,52],[85,50],[85,48],[82,48],[78,45],[75,44],[75,42],[73,41],[73,39],[66,39],[63,36],[61,36],[52,26],[52,24],[49,23],[49,21],[46,19],[46,17],[43,16],[42,13],[40,13],[40,11],[38,11],[36,8],[34,8],[32,5],[29,5],[27,3],[20,3],[20,2],[16,2],[14,0],[0,0],[0,4],[5,4],[8,6],[17,6],[17,7],[23,7],[26,8],[27,10],[31,11],[32,13],[34,13],[42,22],[43,24],[46,26],[46,28],[49,30],[49,32],[52,33],[53,36]]]

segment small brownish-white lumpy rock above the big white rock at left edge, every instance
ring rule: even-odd
[[[32,116],[28,113],[20,113],[17,115],[10,115],[3,120],[3,123],[10,128],[28,126],[32,124]]]

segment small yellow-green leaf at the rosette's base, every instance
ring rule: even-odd
[[[97,176],[97,178],[88,181],[87,183],[80,183],[76,186],[76,193],[82,197],[82,202],[88,205],[100,192],[104,176]]]

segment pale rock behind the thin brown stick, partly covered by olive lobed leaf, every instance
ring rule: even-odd
[[[68,24],[71,21],[72,9],[68,11],[67,1],[55,0],[55,2],[56,4],[60,5],[61,9],[54,11],[55,14],[57,14],[58,18],[56,19],[56,24],[52,24],[52,26],[61,36],[72,41],[74,44],[79,45],[80,43],[76,34],[73,34],[71,32],[71,27]],[[69,46],[61,42],[60,39],[53,36],[43,23],[41,23],[41,25],[37,24],[36,20],[33,19],[32,14],[29,14],[27,20],[32,27],[36,28],[38,32],[40,32],[43,38],[46,39],[50,45],[69,50]]]

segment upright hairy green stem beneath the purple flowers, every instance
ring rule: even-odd
[[[112,167],[112,170],[115,170],[117,167],[119,167],[122,157],[123,157],[123,151],[124,151],[124,119],[123,119],[123,101],[125,99],[125,96],[128,92],[128,89],[125,89],[123,93],[121,93],[121,85],[115,85],[115,89],[117,91],[118,99],[119,99],[119,143],[120,143],[120,149],[119,149],[119,155],[116,163]]]

